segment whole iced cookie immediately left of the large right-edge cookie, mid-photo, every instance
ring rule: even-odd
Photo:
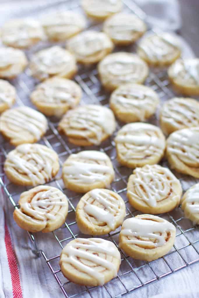
[[[118,162],[130,168],[157,164],[165,150],[165,137],[160,128],[142,122],[124,125],[115,143]]]

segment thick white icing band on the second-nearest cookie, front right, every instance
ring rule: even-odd
[[[122,224],[121,235],[130,237],[124,240],[128,244],[138,246],[161,247],[166,244],[167,233],[175,231],[175,227],[166,220],[155,221],[156,216],[143,215],[141,218],[127,218]],[[145,238],[141,240],[140,238]],[[153,239],[151,241],[150,239]]]

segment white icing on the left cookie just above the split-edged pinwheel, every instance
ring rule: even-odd
[[[11,151],[6,160],[6,166],[26,174],[33,185],[44,184],[52,178],[54,156],[46,151],[45,146],[38,144],[22,144]]]

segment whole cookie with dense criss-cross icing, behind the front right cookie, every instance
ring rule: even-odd
[[[129,203],[143,213],[169,212],[179,205],[181,195],[180,181],[158,164],[136,168],[127,184]]]

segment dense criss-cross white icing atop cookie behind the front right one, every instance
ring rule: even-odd
[[[165,167],[159,165],[146,165],[142,168],[136,168],[133,171],[135,175],[133,179],[134,191],[128,192],[136,199],[146,202],[151,207],[156,207],[159,201],[170,198],[169,193],[174,193],[173,185],[180,182]],[[169,180],[168,180],[169,177]],[[172,196],[175,200],[178,194]]]

